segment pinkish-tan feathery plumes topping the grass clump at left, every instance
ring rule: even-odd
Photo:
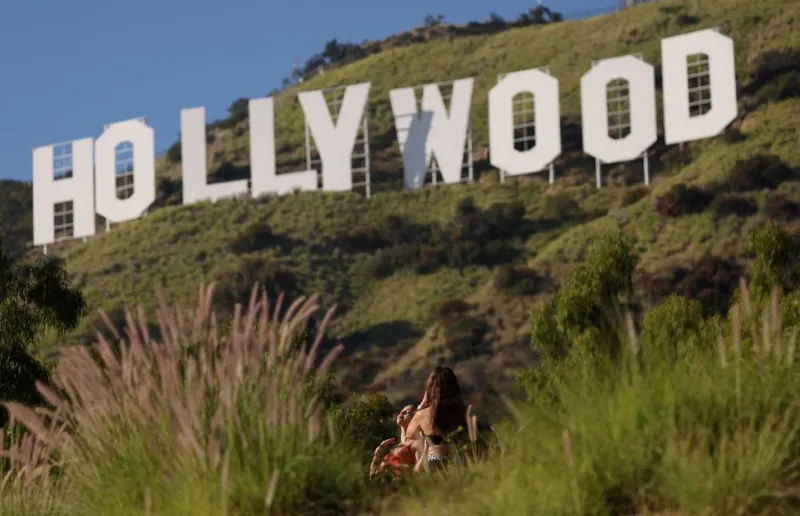
[[[51,408],[5,404],[11,421],[29,433],[2,450],[12,465],[4,482],[12,472],[26,481],[46,476],[60,465],[57,457],[67,463],[80,461],[93,447],[97,451],[108,442],[110,429],[158,424],[172,430],[168,445],[181,457],[221,468],[224,491],[230,481],[228,431],[233,425],[234,438],[247,446],[238,408],[242,399],[257,395],[251,392],[254,386],[258,393],[266,392],[263,417],[269,428],[305,427],[308,438],[316,439],[322,429],[321,406],[316,399],[304,401],[304,396],[309,383],[324,376],[342,351],[336,346],[314,368],[334,308],[322,320],[312,345],[298,347],[301,331],[319,310],[317,296],[295,300],[281,318],[282,296],[270,310],[266,293],[259,298],[256,286],[246,315],[237,305],[230,332],[220,339],[212,294],[213,285],[201,287],[192,312],[170,305],[158,290],[160,341],[150,335],[141,309],[126,310],[123,334],[101,313],[114,343],[98,332],[93,349],[64,350],[53,375],[63,397],[39,384]],[[277,481],[274,471],[266,494],[269,504]]]

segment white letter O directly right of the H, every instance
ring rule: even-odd
[[[117,146],[133,146],[133,195],[117,197]],[[155,134],[139,120],[111,125],[95,142],[95,199],[99,215],[109,222],[135,220],[156,200]]]

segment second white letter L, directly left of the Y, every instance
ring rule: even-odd
[[[278,175],[275,170],[275,103],[272,97],[250,100],[250,177],[253,197],[282,195],[294,189],[316,190],[317,172]]]

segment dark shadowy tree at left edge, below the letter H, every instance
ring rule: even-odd
[[[48,371],[30,347],[48,329],[74,329],[85,312],[60,258],[18,263],[0,250],[0,399],[39,402],[35,383],[46,382]],[[0,425],[5,417],[3,410]]]

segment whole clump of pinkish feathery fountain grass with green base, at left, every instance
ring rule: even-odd
[[[98,332],[92,349],[64,351],[54,373],[63,394],[38,386],[51,408],[6,404],[30,432],[20,446],[33,439],[40,450],[21,461],[23,476],[63,462],[79,514],[313,510],[359,493],[359,464],[325,432],[316,396],[342,351],[317,360],[334,308],[307,346],[317,296],[285,311],[281,296],[271,310],[256,286],[220,332],[212,294],[201,287],[186,311],[158,290],[159,339],[143,310],[126,310],[122,333],[109,325],[113,341]]]

